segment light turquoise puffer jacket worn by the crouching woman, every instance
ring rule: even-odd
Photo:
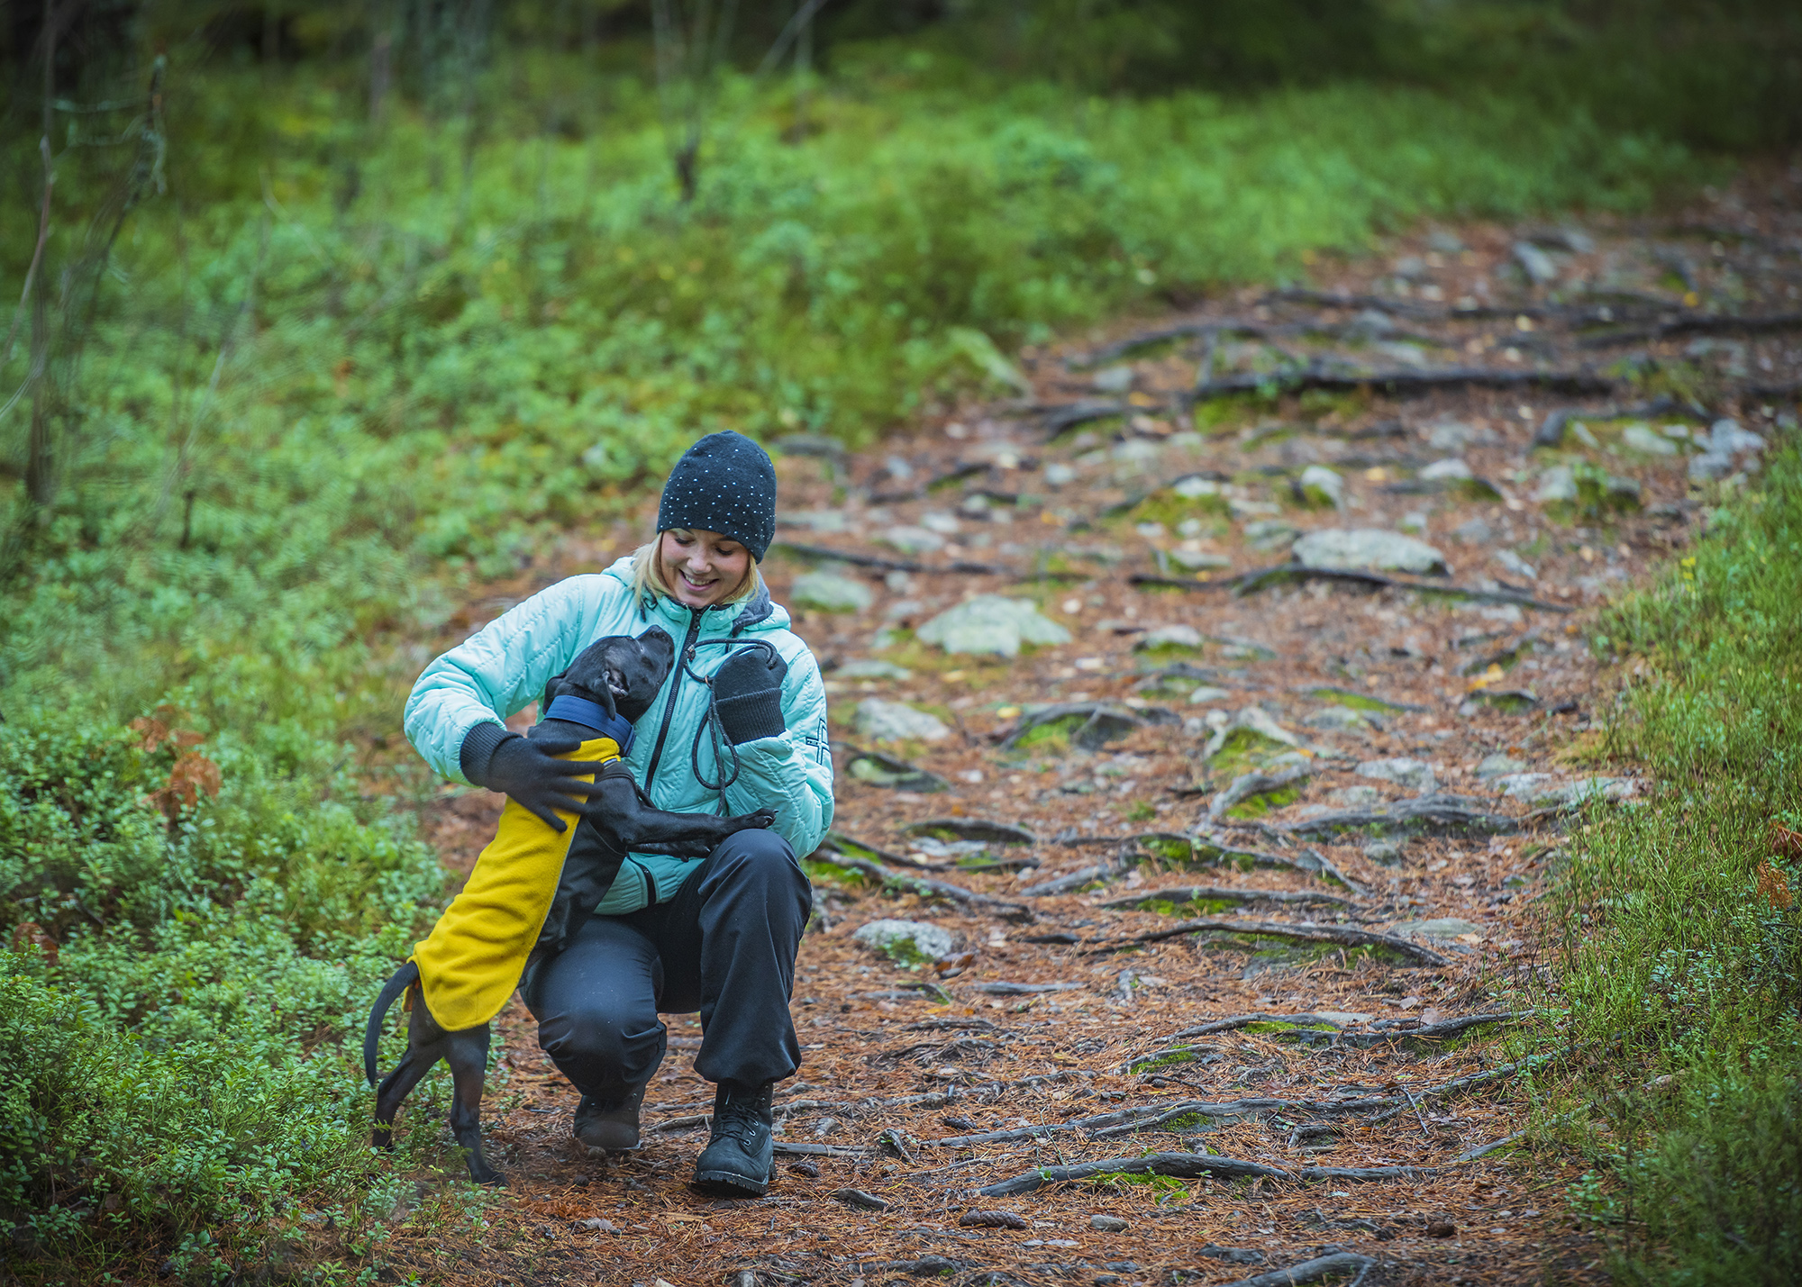
[[[636,725],[625,762],[660,809],[719,813],[719,793],[694,771],[717,782],[721,766],[712,739],[696,734],[706,717],[710,678],[742,644],[773,644],[787,662],[782,714],[787,730],[737,748],[739,777],[726,788],[726,811],[777,809],[775,829],[805,858],[833,826],[833,755],[825,732],[825,689],[820,667],[789,629],[789,615],[759,591],[741,602],[694,611],[652,595],[634,602],[633,561],[600,573],[569,577],[488,622],[425,667],[407,698],[407,739],[438,773],[465,782],[458,764],[463,737],[478,723],[501,723],[544,694],[546,681],[604,634],[643,634],[661,625],[676,640],[678,665],[658,699]],[[690,651],[692,649],[692,651]],[[732,764],[728,759],[726,773]],[[669,901],[699,863],[663,854],[631,854],[598,912],[622,916],[651,901]]]

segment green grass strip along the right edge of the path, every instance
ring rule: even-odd
[[[1598,644],[1627,681],[1606,750],[1656,780],[1573,836],[1559,887],[1577,1190],[1618,1282],[1802,1274],[1802,916],[1771,820],[1802,809],[1802,456],[1716,510],[1692,557]]]

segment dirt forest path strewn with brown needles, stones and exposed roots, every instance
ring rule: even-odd
[[[1640,790],[1586,768],[1609,692],[1593,609],[1692,539],[1710,474],[1755,467],[1710,425],[1770,438],[1795,404],[1802,220],[1791,178],[1752,191],[1543,233],[1546,263],[1515,252],[1532,229],[1422,231],[1314,265],[1317,296],[1247,290],[1027,353],[1031,397],[914,438],[789,442],[768,573],[845,741],[778,1181],[757,1202],[687,1188],[710,1087],[679,1017],[645,1148],[586,1155],[515,1002],[490,1128],[514,1188],[487,1226],[402,1231],[386,1255],[458,1283],[1225,1283],[1337,1253],[1373,1260],[1364,1283],[1600,1278],[1566,1217],[1575,1161],[1472,1154],[1524,1123],[1508,1015],[1557,1004],[1537,899],[1577,800]],[[1524,285],[1523,260],[1557,281]],[[1452,368],[1474,379],[1418,379]],[[1215,397],[1285,370],[1323,388]],[[1604,388],[1627,370],[1669,400]],[[1341,388],[1373,371],[1395,379]],[[1561,409],[1559,445],[1534,452]],[[1245,579],[1328,528],[1404,534],[1447,566]],[[629,544],[571,537],[559,571]],[[834,584],[796,546],[863,561],[825,580],[869,606],[800,606],[796,577]],[[971,595],[1029,598],[1070,638],[1007,660],[912,636]],[[878,743],[856,725],[870,699],[944,735]],[[1040,703],[1081,721],[1009,748]],[[860,775],[860,750],[932,780],[885,786],[894,766]],[[483,797],[445,809],[447,860],[467,867],[490,826]],[[854,860],[980,898],[883,889]],[[852,939],[879,917],[953,950],[890,961]],[[1121,1175],[1148,1154],[1180,1154],[1175,1177]],[[978,1191],[1105,1159],[1128,1161]]]

